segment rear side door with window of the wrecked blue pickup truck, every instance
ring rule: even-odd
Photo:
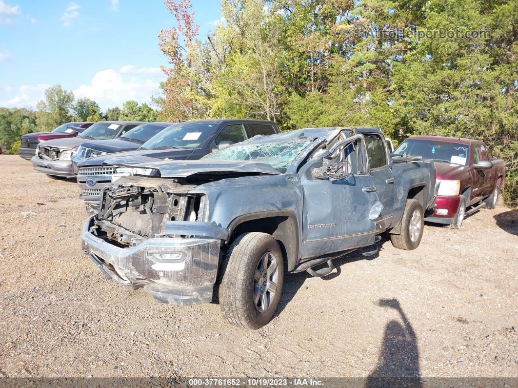
[[[394,212],[394,175],[392,174],[386,143],[377,133],[364,133],[365,146],[369,156],[370,175],[376,187],[376,193],[383,209],[378,222],[390,224]]]

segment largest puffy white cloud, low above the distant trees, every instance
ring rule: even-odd
[[[165,76],[153,67],[137,68],[124,66],[119,71],[107,69],[98,71],[90,84],[82,84],[74,90],[76,98],[88,97],[95,100],[101,109],[122,107],[127,100],[149,103],[153,94],[160,93],[160,81]]]

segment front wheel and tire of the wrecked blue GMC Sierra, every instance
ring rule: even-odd
[[[270,322],[279,305],[284,280],[277,240],[259,232],[240,235],[228,249],[222,271],[219,301],[227,321],[246,329],[258,329]]]

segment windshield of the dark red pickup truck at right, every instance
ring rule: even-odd
[[[465,166],[468,160],[469,145],[439,140],[408,139],[393,152],[394,155],[402,153]]]

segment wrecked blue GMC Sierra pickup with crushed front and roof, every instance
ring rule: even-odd
[[[232,324],[268,323],[284,272],[324,276],[389,232],[418,247],[433,206],[434,162],[391,159],[379,128],[310,128],[256,136],[198,161],[113,157],[133,175],[105,188],[82,233],[108,279],[164,303],[218,295]],[[317,266],[327,267],[317,269]]]

